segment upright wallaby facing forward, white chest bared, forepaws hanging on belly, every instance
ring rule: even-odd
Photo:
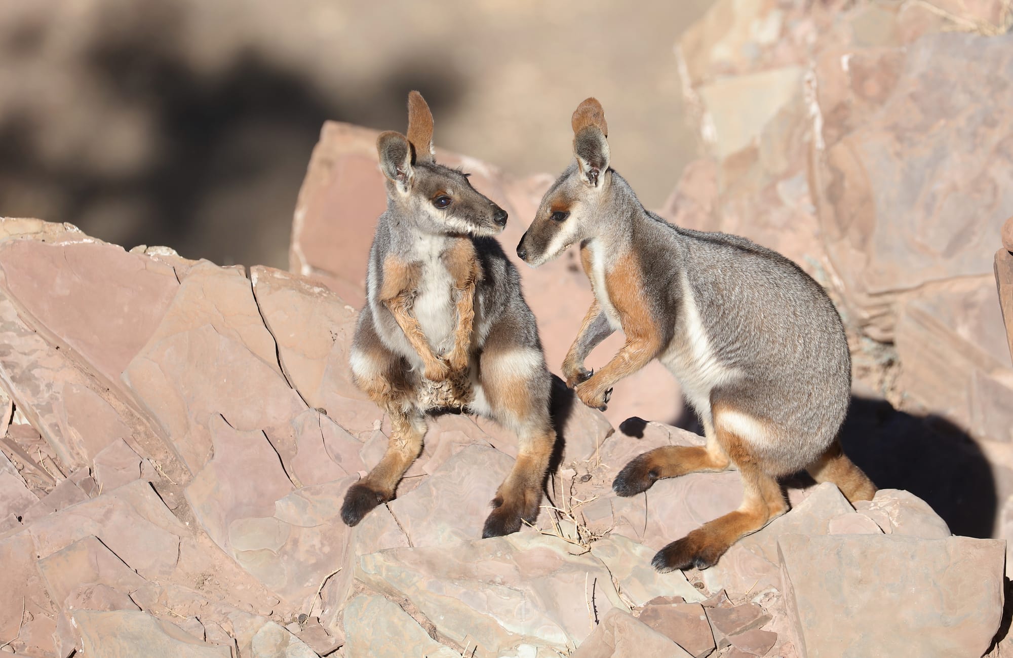
[[[408,135],[377,139],[387,211],[377,223],[366,277],[367,304],[352,345],[354,380],[389,416],[387,453],[345,494],[341,518],[355,525],[394,497],[422,449],[426,413],[458,408],[491,418],[520,439],[482,537],[533,522],[542,501],[555,432],[551,379],[535,317],[517,269],[491,236],[506,213],[468,174],[437,164],[433,114],[408,95]]]

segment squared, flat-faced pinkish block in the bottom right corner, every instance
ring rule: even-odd
[[[999,628],[1002,542],[786,534],[778,555],[801,658],[977,658]]]

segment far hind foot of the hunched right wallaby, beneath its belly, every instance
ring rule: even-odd
[[[728,456],[718,442],[714,427],[707,419],[703,427],[706,445],[666,445],[644,453],[623,467],[612,482],[612,489],[620,496],[634,496],[663,478],[727,470]]]

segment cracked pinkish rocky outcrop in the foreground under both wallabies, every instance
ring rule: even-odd
[[[856,510],[833,485],[792,488],[794,509],[715,568],[656,573],[656,549],[734,508],[737,475],[616,497],[611,478],[627,460],[702,438],[656,422],[614,431],[558,384],[565,445],[535,525],[478,539],[516,439],[450,414],[435,419],[398,497],[348,528],[344,490],[380,458],[388,428],[349,384],[344,300],[298,274],[126,252],[66,226],[4,220],[0,233],[0,382],[12,398],[0,640],[19,654],[824,655],[838,640],[804,601],[837,554],[785,552],[802,540],[846,540],[870,564],[881,553],[898,582],[936,582],[944,600],[982,610],[968,622],[899,602],[946,629],[932,636],[940,646],[977,651],[999,625],[1002,544],[950,538],[906,492]],[[7,283],[28,280],[33,261],[10,253],[44,254],[50,270],[30,294],[63,303],[22,300]],[[115,275],[99,274],[107,261]],[[172,295],[147,301],[157,312],[124,298],[138,271],[165,277],[154,280]],[[106,354],[95,332],[141,331],[91,317],[120,299],[153,319],[145,341]],[[907,557],[889,557],[897,547]],[[961,589],[959,575],[981,586]],[[836,577],[855,596],[878,587],[850,568]]]

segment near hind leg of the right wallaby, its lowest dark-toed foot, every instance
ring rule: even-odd
[[[742,414],[736,416],[741,421]],[[737,434],[722,427],[721,418],[716,413],[714,422],[718,442],[742,476],[743,502],[735,511],[704,523],[658,551],[651,560],[658,571],[712,567],[732,544],[787,511],[788,505],[777,479],[764,470]],[[760,422],[750,424],[762,425]]]

